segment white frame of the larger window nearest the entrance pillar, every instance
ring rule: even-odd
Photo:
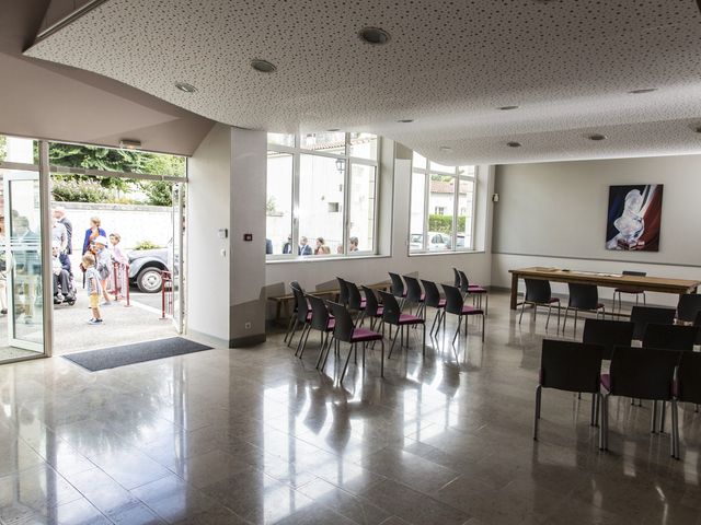
[[[277,133],[279,135],[279,133]],[[291,133],[288,133],[291,135]],[[381,140],[380,136],[376,135],[377,147],[376,147],[376,156],[375,159],[363,159],[359,156],[350,156],[350,132],[345,132],[345,143],[344,143],[344,152],[343,154],[338,153],[329,153],[319,150],[311,150],[307,148],[302,148],[302,137],[300,133],[295,133],[295,145],[281,145],[268,142],[267,151],[274,151],[276,153],[287,153],[292,155],[292,203],[291,203],[291,235],[292,235],[292,246],[299,246],[299,208],[300,208],[300,185],[301,185],[301,156],[302,155],[315,155],[323,156],[326,159],[334,159],[336,161],[341,160],[343,162],[343,254],[332,253],[330,255],[317,255],[317,256],[300,256],[295,254],[292,249],[291,254],[271,254],[265,256],[266,262],[280,262],[280,261],[300,261],[300,260],[336,260],[341,258],[350,258],[350,257],[368,257],[368,256],[377,256],[378,255],[378,234],[379,234],[379,224],[378,224],[378,213],[379,213],[379,187],[380,187],[380,149],[381,149]],[[370,249],[359,249],[357,252],[348,250],[348,238],[350,234],[350,199],[352,199],[352,173],[354,165],[365,165],[375,168],[375,187],[374,187],[374,206],[372,206],[372,247]],[[267,198],[267,190],[266,190]],[[266,228],[267,228],[267,218],[266,218]],[[310,240],[311,241],[311,240]]]

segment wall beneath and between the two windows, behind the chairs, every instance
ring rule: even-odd
[[[380,229],[387,228],[387,217],[383,215],[391,206],[391,246],[389,250],[382,250],[382,257],[350,258],[336,260],[314,260],[306,258],[303,260],[267,262],[266,284],[271,287],[271,294],[283,293],[281,285],[289,293],[289,282],[292,280],[308,290],[314,290],[319,285],[335,284],[336,276],[343,277],[357,283],[374,283],[389,279],[388,271],[399,273],[417,272],[422,279],[435,280],[438,282],[452,281],[452,267],[466,270],[471,280],[479,283],[489,284],[491,281],[491,254],[490,254],[490,231],[475,236],[479,253],[458,253],[447,255],[422,255],[409,256],[409,219],[410,219],[410,176],[411,176],[411,150],[401,144],[397,144],[395,162],[389,165],[383,161],[381,177],[393,176],[393,196],[382,195],[380,217],[382,223]],[[390,155],[391,158],[391,155]],[[392,170],[393,167],[393,170]],[[492,175],[487,166],[481,166],[480,178],[478,180],[478,221],[476,230],[484,230],[485,224],[491,224],[491,195]],[[392,173],[393,171],[393,173]],[[392,191],[381,183],[381,191]],[[387,241],[387,231],[382,232],[380,238]],[[382,241],[381,241],[382,243]],[[272,311],[268,310],[268,316]]]

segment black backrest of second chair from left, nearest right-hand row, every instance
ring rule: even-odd
[[[611,394],[636,399],[669,400],[681,352],[616,347],[611,357]]]

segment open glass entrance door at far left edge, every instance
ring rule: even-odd
[[[39,174],[15,170],[1,170],[0,174],[4,190],[8,342],[44,353]]]

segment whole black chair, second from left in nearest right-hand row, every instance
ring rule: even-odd
[[[609,397],[624,396],[652,401],[671,401],[675,369],[681,352],[653,348],[616,347],[609,374],[601,375],[601,433],[599,448],[608,450]],[[656,432],[657,410],[653,408],[651,431]],[[669,440],[675,455],[674,439]]]

